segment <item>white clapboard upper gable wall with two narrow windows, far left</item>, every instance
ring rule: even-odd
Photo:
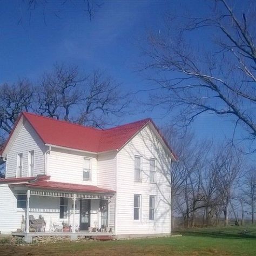
[[[17,154],[23,153],[22,177],[28,176],[29,151],[35,151],[34,175],[44,174],[44,152],[46,147],[31,125],[23,119],[23,124],[18,131],[14,143],[11,145],[7,156],[6,178],[15,177],[17,172]]]

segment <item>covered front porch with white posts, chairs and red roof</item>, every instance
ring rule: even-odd
[[[114,233],[114,191],[44,180],[9,187],[21,207],[21,226],[12,235],[74,240]]]

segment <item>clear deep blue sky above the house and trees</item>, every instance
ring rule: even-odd
[[[122,83],[124,91],[147,87],[148,82],[136,72],[142,61],[141,39],[147,31],[160,29],[166,12],[179,15],[191,11],[199,16],[208,10],[207,1],[199,0],[106,0],[101,1],[104,4],[90,21],[82,0],[66,1],[64,5],[63,0],[49,0],[45,15],[41,5],[30,15],[24,2],[0,2],[0,83],[23,77],[36,81],[54,63],[63,62],[77,64],[85,71],[104,69]],[[145,93],[137,98],[145,99]],[[149,116],[158,125],[172,119],[163,118],[159,109],[143,113],[138,108],[125,122]],[[232,133],[233,123],[204,114],[193,124],[193,129],[201,138],[222,140]]]

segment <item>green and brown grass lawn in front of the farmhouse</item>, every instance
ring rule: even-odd
[[[250,234],[241,234],[242,230]],[[1,245],[0,255],[256,255],[256,226],[195,228],[178,233],[183,237]]]

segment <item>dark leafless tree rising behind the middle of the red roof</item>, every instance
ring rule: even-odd
[[[36,112],[56,119],[102,127],[124,114],[129,97],[104,72],[80,74],[77,66],[55,65],[37,87]]]

